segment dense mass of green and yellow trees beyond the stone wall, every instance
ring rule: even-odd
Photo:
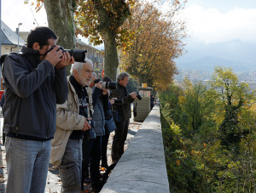
[[[160,93],[170,190],[254,192],[255,95],[230,69],[222,67],[215,68],[210,86],[184,80],[183,88],[172,85]],[[224,128],[227,117],[233,121]],[[223,129],[236,133],[239,140],[224,145],[229,136]]]

